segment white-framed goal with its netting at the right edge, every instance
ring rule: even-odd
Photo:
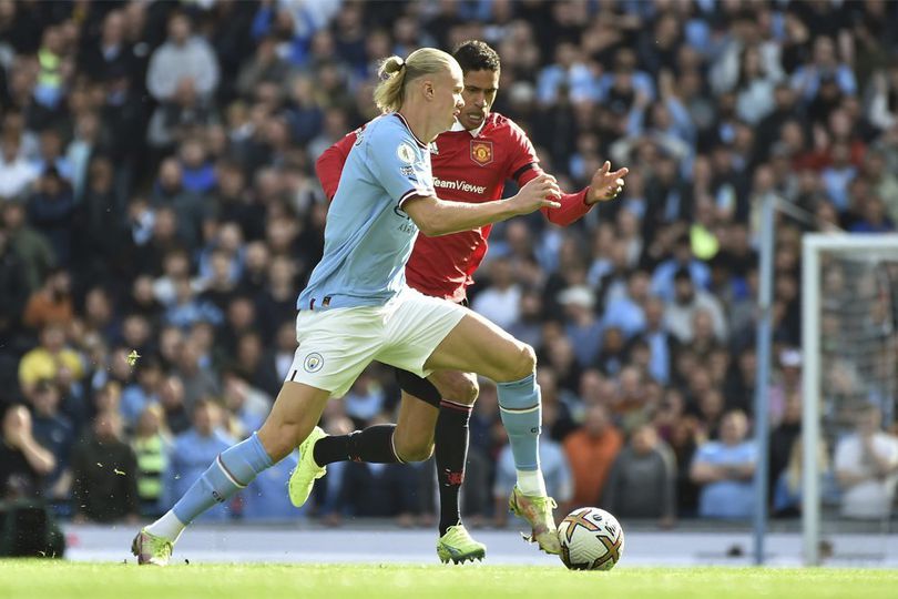
[[[898,235],[803,243],[804,558],[881,561],[898,473]]]

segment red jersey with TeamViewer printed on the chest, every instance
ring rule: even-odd
[[[337,193],[343,165],[356,141],[356,131],[328,148],[315,171],[328,200]],[[430,144],[433,186],[440,200],[478,204],[502,197],[506,181],[518,185],[542,174],[527,134],[510,119],[491,112],[479,131],[447,131]],[[588,190],[589,187],[586,187]],[[586,190],[563,194],[558,209],[542,209],[554,224],[568,225],[589,212]],[[451,235],[418,235],[406,264],[409,286],[452,302],[465,300],[472,275],[487,254],[492,225]]]

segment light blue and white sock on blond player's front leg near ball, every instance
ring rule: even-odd
[[[499,383],[497,388],[499,414],[518,470],[518,488],[524,495],[545,495],[539,456],[542,405],[535,373],[520,380]],[[522,477],[521,473],[531,474]]]

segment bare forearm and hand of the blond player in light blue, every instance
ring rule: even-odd
[[[516,196],[508,200],[468,204],[446,202],[432,195],[412,195],[404,201],[401,207],[421,233],[433,237],[470,231],[540,209],[558,207],[560,204],[554,199],[560,193],[554,177],[542,174],[529,181]]]

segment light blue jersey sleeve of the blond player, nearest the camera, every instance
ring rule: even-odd
[[[407,131],[385,123],[366,143],[371,173],[397,205],[410,197],[437,195],[430,154]]]

